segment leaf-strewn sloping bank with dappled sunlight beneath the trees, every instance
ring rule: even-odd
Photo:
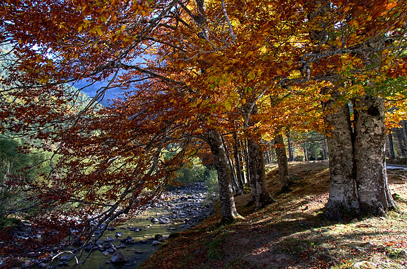
[[[244,217],[219,226],[219,208],[194,228],[172,234],[138,269],[156,268],[395,268],[407,266],[407,171],[388,170],[400,212],[386,218],[332,223],[327,162],[289,164],[293,191],[280,194],[276,166],[268,187],[276,203],[253,212],[249,194],[236,197]]]

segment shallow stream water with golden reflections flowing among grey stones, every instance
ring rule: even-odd
[[[137,216],[131,222],[114,227],[115,230],[106,230],[100,237],[102,245],[112,243],[117,247],[118,251],[128,259],[124,264],[110,263],[112,254],[104,256],[102,251],[93,250],[89,258],[83,265],[78,265],[76,268],[80,269],[134,269],[141,262],[147,260],[157,249],[158,246],[152,246],[156,235],[168,236],[173,232],[180,232],[189,227],[193,227],[200,222],[203,218],[208,217],[213,209],[209,205],[204,205],[206,188],[203,183],[197,183],[195,185],[189,185],[184,188],[178,188],[169,192],[167,199],[161,202],[155,203],[146,212]],[[167,201],[165,201],[167,200]],[[168,224],[152,223],[151,217],[159,219],[160,217],[166,217],[170,219]],[[141,227],[140,231],[132,231],[130,228]],[[168,228],[171,228],[168,230]],[[123,233],[119,238],[115,237],[116,232]],[[107,236],[115,238],[113,241],[105,242]],[[122,244],[120,240],[131,236],[136,244],[125,244],[125,248],[119,248]],[[147,241],[147,243],[139,243],[139,241]],[[140,254],[135,251],[142,252]],[[84,251],[82,257],[79,259],[81,262],[84,257],[88,256],[89,251]],[[52,264],[61,262],[59,257],[56,257]],[[69,262],[72,265],[74,260]],[[48,263],[49,265],[49,263]]]

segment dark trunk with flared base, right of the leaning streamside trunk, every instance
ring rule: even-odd
[[[266,182],[266,167],[264,161],[264,151],[261,144],[254,141],[253,138],[247,139],[247,148],[249,153],[250,178],[256,189],[256,207],[263,208],[275,200],[270,196]]]

